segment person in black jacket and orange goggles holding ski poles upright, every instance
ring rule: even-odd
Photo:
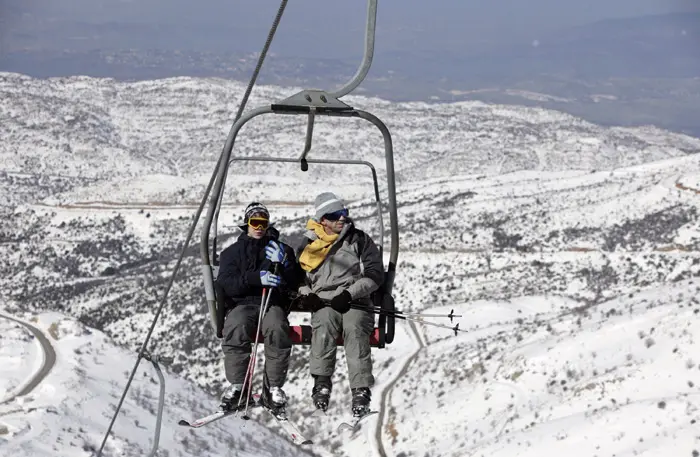
[[[279,232],[270,226],[270,213],[265,205],[258,202],[248,205],[244,224],[239,227],[243,233],[221,253],[217,277],[219,290],[224,292],[229,304],[222,348],[230,385],[221,397],[221,409],[236,408],[241,398],[265,291],[269,305],[260,328],[263,336],[260,343],[265,345],[262,401],[279,411],[287,402],[282,387],[292,348],[286,293],[296,290],[300,269],[293,249],[280,242]],[[276,266],[278,274],[274,273]]]

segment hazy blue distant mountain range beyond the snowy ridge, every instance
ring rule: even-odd
[[[192,42],[199,50],[173,44],[186,42],[187,34],[198,36],[194,29],[80,22],[41,22],[36,27],[31,37],[6,32],[0,71],[42,78],[216,76],[247,81],[255,65],[256,55],[249,51],[218,46],[202,51],[201,36]],[[214,37],[223,32],[217,30],[207,31],[207,36],[219,43]],[[152,45],[139,45],[144,42]],[[454,46],[430,51],[395,46],[376,55],[360,91],[393,101],[541,106],[605,125],[653,124],[700,136],[699,43],[700,13],[684,13],[599,21],[532,42],[476,50],[469,46],[459,52]],[[350,78],[357,63],[273,53],[259,81],[332,88]]]

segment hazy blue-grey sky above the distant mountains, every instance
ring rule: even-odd
[[[7,16],[13,9],[15,15],[19,10],[30,13],[35,20],[54,23],[58,20],[136,24],[151,32],[161,32],[160,36],[153,33],[126,36],[125,32],[127,47],[137,44],[148,48],[170,43],[176,48],[253,51],[262,46],[279,3],[279,0],[0,0],[0,15]],[[290,0],[273,52],[322,57],[360,54],[366,4],[366,0]],[[700,10],[700,0],[379,0],[377,52],[461,49],[483,43],[531,41],[559,28],[600,19],[691,10]],[[35,26],[25,21],[12,24],[10,28],[14,32],[25,36],[31,36],[31,28]],[[45,32],[41,38],[50,43],[51,33],[56,32]],[[142,41],[135,43],[139,39]],[[155,41],[149,42],[151,39]]]

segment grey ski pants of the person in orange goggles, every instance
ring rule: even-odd
[[[245,380],[259,315],[258,305],[236,306],[226,315],[221,347],[226,379],[231,384],[243,384]],[[261,331],[264,339],[259,343],[265,345],[265,374],[270,387],[282,387],[287,379],[292,352],[289,321],[284,310],[279,306],[270,307],[263,317]]]

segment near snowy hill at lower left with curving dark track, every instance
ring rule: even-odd
[[[0,315],[0,394],[30,379],[42,363],[41,346],[22,325]],[[43,331],[57,353],[49,375],[30,394],[0,404],[3,455],[83,457],[99,449],[135,359],[101,332],[58,313],[25,316]],[[159,384],[150,363],[140,366],[105,456],[148,455],[153,446]],[[212,424],[196,433],[177,425],[208,414],[214,401],[200,389],[166,373],[166,404],[160,453],[170,456],[308,455],[255,422],[245,427]]]

